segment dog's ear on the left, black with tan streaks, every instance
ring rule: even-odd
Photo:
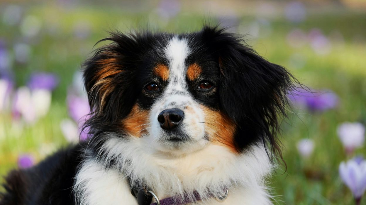
[[[138,93],[133,85],[138,42],[121,33],[111,33],[101,41],[105,40],[111,43],[85,62],[84,81],[93,118],[113,122],[128,114]]]

